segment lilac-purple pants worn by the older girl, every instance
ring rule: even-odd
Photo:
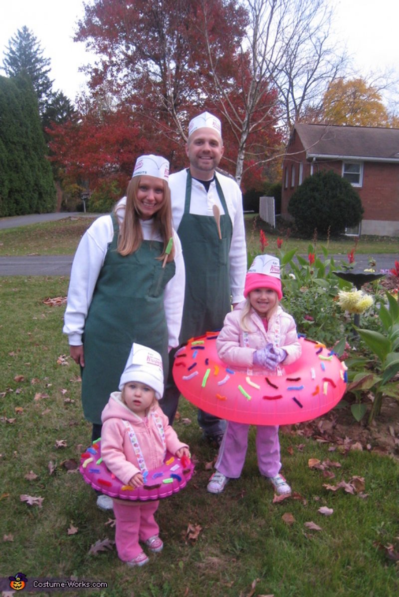
[[[249,425],[228,421],[215,469],[226,477],[238,479],[243,470],[248,446]],[[281,469],[278,427],[256,426],[256,454],[260,474],[274,477]]]

